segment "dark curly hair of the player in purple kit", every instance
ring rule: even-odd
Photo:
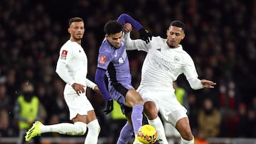
[[[104,32],[107,35],[120,33],[123,29],[122,23],[119,21],[108,21],[104,26]]]

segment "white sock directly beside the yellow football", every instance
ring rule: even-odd
[[[154,126],[156,128],[157,134],[158,134],[158,139],[160,144],[169,144],[167,139],[166,139],[166,135],[164,133],[164,126],[163,123],[161,122],[161,119],[159,118],[159,116],[157,116],[157,118],[153,119],[153,120],[149,120],[149,124]]]

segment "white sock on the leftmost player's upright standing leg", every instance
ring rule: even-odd
[[[100,124],[95,119],[87,124],[88,133],[85,138],[85,144],[97,144],[98,136],[100,134]]]

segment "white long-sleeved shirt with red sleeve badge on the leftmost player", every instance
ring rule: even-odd
[[[78,43],[68,40],[60,48],[60,56],[58,58],[56,72],[67,84],[65,92],[74,93],[75,90],[71,87],[73,83],[83,84],[92,89],[96,86],[86,78],[87,76],[87,56],[85,51]]]

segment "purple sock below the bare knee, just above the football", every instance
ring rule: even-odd
[[[132,126],[134,128],[134,135],[137,134],[139,128],[142,126],[142,118],[143,118],[143,105],[137,104],[132,108]]]

